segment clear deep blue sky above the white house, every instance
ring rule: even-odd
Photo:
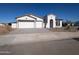
[[[54,14],[57,18],[79,21],[78,3],[0,3],[0,23],[15,22],[17,16],[25,14],[45,16]]]

